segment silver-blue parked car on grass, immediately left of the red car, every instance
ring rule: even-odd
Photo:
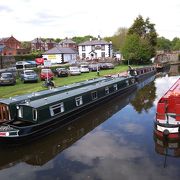
[[[24,70],[20,74],[21,81],[25,82],[38,82],[38,75],[34,70]]]

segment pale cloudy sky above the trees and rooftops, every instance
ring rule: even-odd
[[[0,0],[0,38],[112,36],[139,14],[159,36],[180,37],[180,0]]]

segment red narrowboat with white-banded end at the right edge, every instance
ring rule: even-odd
[[[167,139],[180,139],[180,78],[157,104],[155,133]]]

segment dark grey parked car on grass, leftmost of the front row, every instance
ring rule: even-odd
[[[2,73],[0,75],[0,85],[15,85],[16,79],[12,73]]]

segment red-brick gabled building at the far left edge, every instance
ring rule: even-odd
[[[1,55],[16,55],[17,50],[21,48],[21,42],[13,36],[0,39]]]

